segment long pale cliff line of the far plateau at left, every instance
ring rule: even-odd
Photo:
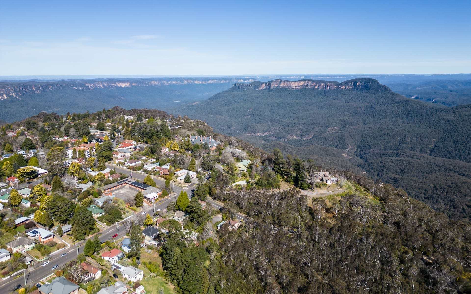
[[[105,79],[105,80],[63,80],[47,82],[8,82],[0,83],[0,100],[21,99],[24,95],[40,94],[62,89],[95,90],[123,87],[160,87],[190,84],[250,83],[254,79]]]

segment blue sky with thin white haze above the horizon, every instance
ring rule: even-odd
[[[470,15],[464,0],[4,0],[0,75],[469,73]]]

